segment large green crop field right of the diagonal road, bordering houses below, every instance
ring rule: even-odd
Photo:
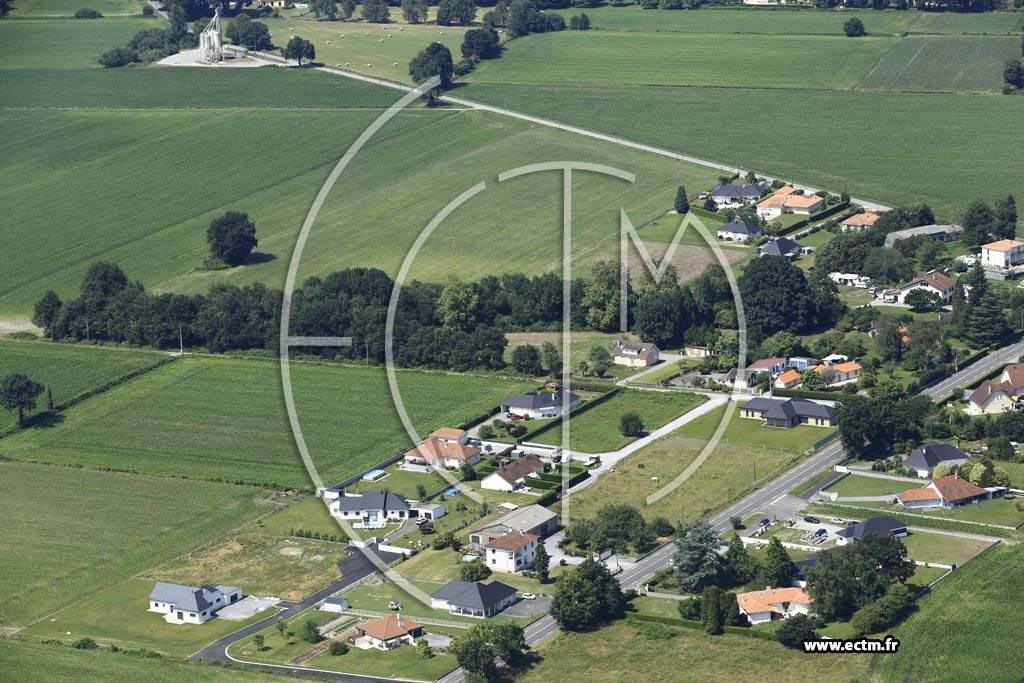
[[[845,187],[854,197],[927,202],[940,220],[954,219],[978,197],[1024,195],[1024,173],[1017,171],[1024,137],[1008,136],[994,123],[1024,118],[1024,97],[513,83],[465,90],[471,99],[836,191]],[[635,116],[638,108],[644,116]],[[935,117],[937,111],[947,115]],[[964,121],[982,123],[967,138]]]

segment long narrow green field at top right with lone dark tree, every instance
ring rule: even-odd
[[[561,10],[566,17],[579,8]],[[819,12],[774,8],[708,9],[699,11],[651,11],[638,5],[588,7],[583,9],[595,31],[636,31],[642,33],[710,34],[809,34],[842,36],[847,12]],[[913,11],[855,12],[871,35],[923,34],[1011,34],[1020,30],[1020,14]]]

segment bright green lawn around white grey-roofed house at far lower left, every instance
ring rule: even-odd
[[[269,608],[243,622],[214,617],[205,624],[168,624],[163,614],[147,611],[152,590],[152,581],[133,579],[93,595],[53,618],[38,622],[23,634],[29,638],[69,643],[87,636],[104,645],[144,647],[183,658],[272,613]]]

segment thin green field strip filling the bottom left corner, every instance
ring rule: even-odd
[[[292,676],[225,669],[167,657],[131,656],[108,649],[76,650],[0,638],[4,674],[18,683],[294,683]]]

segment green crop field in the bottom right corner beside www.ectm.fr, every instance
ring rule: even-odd
[[[861,680],[1009,683],[1019,678],[1008,666],[1009,653],[1020,647],[1017,622],[992,614],[1016,614],[1024,606],[1022,553],[1019,545],[993,548],[936,586],[893,633],[900,640],[899,654],[871,657]]]

